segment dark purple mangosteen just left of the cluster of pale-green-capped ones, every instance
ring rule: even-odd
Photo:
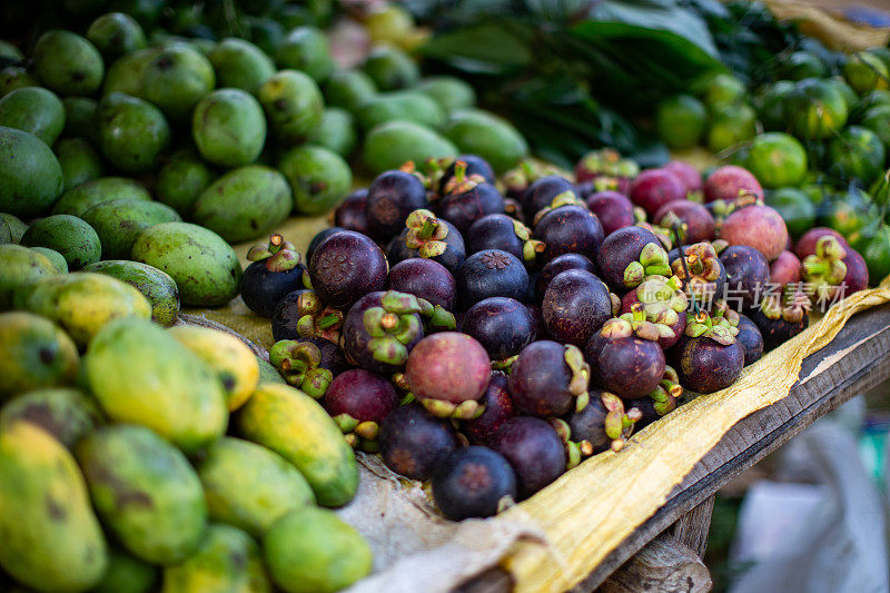
[[[547,285],[541,310],[552,336],[583,347],[612,317],[612,298],[596,276],[583,269],[568,269]]]

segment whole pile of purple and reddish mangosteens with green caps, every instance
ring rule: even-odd
[[[271,319],[271,363],[355,447],[432,480],[451,520],[620,449],[868,285],[832,230],[792,250],[743,168],[640,171],[600,150],[574,176],[406,164],[352,194],[305,258],[280,236],[249,256],[241,294]]]

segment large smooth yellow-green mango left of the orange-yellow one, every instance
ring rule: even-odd
[[[146,319],[102,328],[85,357],[87,380],[113,422],[148,426],[187,453],[226,431],[222,386],[210,367]]]

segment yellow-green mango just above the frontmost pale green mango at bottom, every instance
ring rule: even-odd
[[[255,537],[290,511],[315,503],[303,474],[277,453],[224,437],[198,465],[210,520],[235,525]]]

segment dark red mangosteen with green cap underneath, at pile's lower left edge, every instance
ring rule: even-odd
[[[398,394],[382,376],[353,368],[334,377],[322,404],[349,444],[373,451],[380,423],[398,405]]]

